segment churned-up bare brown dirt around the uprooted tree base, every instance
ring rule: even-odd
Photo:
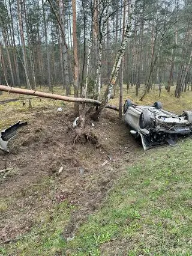
[[[73,236],[89,213],[97,210],[110,187],[133,163],[142,147],[134,141],[118,113],[106,109],[100,121],[88,121],[89,132],[100,144],[73,145],[68,129],[74,120],[71,109],[40,108],[30,112],[10,144],[9,154],[0,152],[0,243],[14,240],[38,225],[44,210],[67,200],[76,206],[64,230]],[[60,171],[59,171],[60,169]]]

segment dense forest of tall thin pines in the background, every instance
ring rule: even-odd
[[[124,61],[116,84],[176,83],[175,96],[191,90],[190,0],[0,1],[0,84],[35,89],[63,85],[71,94],[78,62],[77,88],[98,99],[110,81],[125,23],[131,20]],[[76,5],[76,10],[74,8]],[[74,30],[74,25],[76,29]],[[75,35],[74,35],[75,33]],[[77,59],[74,45],[77,39]],[[115,90],[114,90],[115,94]]]

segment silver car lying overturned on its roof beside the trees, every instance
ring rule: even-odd
[[[161,102],[138,106],[127,99],[124,120],[131,128],[130,133],[135,138],[141,138],[144,150],[165,143],[174,145],[178,136],[192,135],[192,111],[176,115],[162,109]]]

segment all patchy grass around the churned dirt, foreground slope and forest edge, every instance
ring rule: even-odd
[[[130,97],[140,104],[134,90],[125,92],[124,99]],[[61,93],[61,89],[56,88],[55,93]],[[3,94],[0,100],[13,97],[18,96]],[[191,92],[175,99],[173,93],[167,94],[164,89],[158,97],[155,89],[142,104],[151,105],[157,100],[176,113],[192,109]],[[46,106],[65,108],[63,102],[32,99],[33,108],[29,111],[22,102],[21,98],[20,102],[0,105],[1,128],[20,117],[30,119],[32,112]],[[118,105],[118,97],[112,103]],[[13,111],[16,115],[11,115]],[[181,139],[175,147],[165,145],[142,151],[134,163],[123,162],[121,169],[116,169],[121,177],[117,176],[103,203],[76,229],[74,236],[66,239],[63,235],[76,210],[65,200],[37,216],[38,225],[28,233],[0,244],[0,255],[192,255],[191,151],[191,138]],[[42,193],[44,197],[54,192],[54,182],[47,178],[25,193]],[[1,218],[14,200],[0,199]]]

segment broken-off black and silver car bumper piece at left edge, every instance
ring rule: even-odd
[[[22,126],[26,126],[27,124],[28,124],[27,122],[20,123],[20,121],[18,121],[16,124],[13,124],[13,126],[10,126],[5,130],[2,130],[0,132],[0,148],[1,148],[1,150],[5,151],[5,152],[9,152],[9,149],[7,147],[8,142],[10,141],[10,139],[13,139],[14,136],[16,136],[18,128],[20,128]]]

